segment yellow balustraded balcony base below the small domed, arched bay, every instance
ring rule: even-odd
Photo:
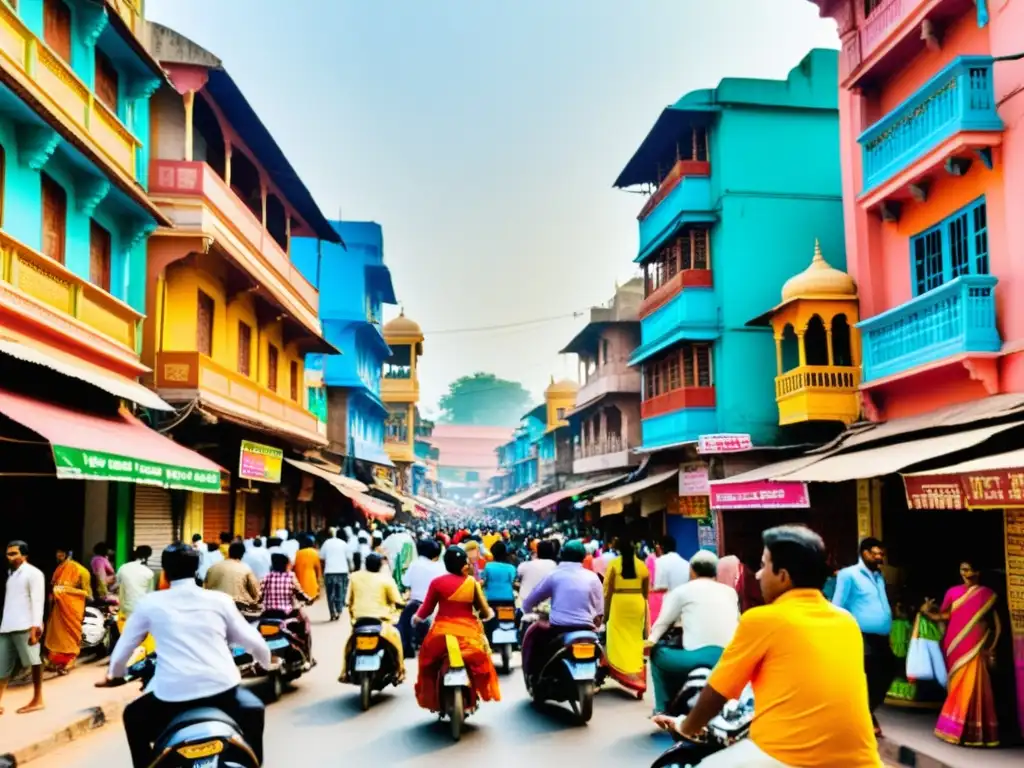
[[[847,366],[800,366],[775,379],[778,423],[838,421],[860,417],[860,371]]]

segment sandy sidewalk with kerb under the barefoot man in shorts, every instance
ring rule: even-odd
[[[48,677],[43,683],[46,709],[17,715],[18,707],[32,697],[31,685],[16,685],[3,697],[5,715],[0,717],[0,755],[12,754],[17,765],[46,755],[81,738],[104,724],[118,722],[125,705],[141,692],[138,683],[120,688],[96,688],[106,663],[83,664],[67,677]]]

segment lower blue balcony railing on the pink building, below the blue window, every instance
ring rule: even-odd
[[[996,278],[965,274],[861,321],[864,381],[965,352],[996,352]]]

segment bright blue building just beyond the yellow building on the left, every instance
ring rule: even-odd
[[[381,317],[382,306],[396,301],[384,264],[384,236],[372,221],[331,224],[344,245],[301,239],[292,247],[293,261],[319,289],[324,336],[342,352],[306,358],[313,384],[310,401],[322,383],[332,453],[364,465],[392,467],[384,451],[387,408],[381,400],[381,371],[391,350]]]

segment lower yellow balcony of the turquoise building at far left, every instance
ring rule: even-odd
[[[142,315],[123,301],[2,230],[0,270],[0,311],[13,315],[0,325],[34,326],[131,377],[146,370],[135,344]]]

